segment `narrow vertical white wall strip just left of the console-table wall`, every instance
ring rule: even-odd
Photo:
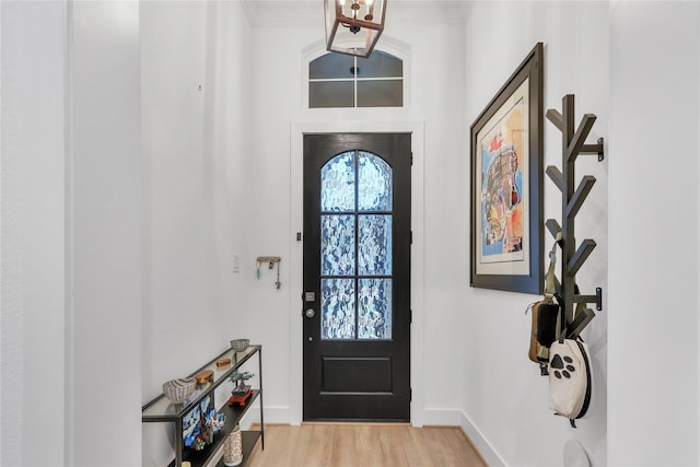
[[[69,14],[67,464],[138,465],[140,415],[133,408],[141,402],[135,382],[143,310],[139,7],[73,2]]]

